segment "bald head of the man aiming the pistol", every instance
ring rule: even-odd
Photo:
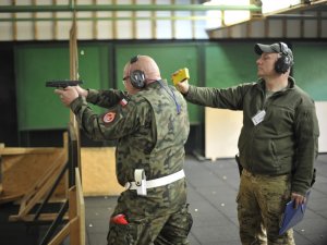
[[[136,70],[144,72],[146,84],[161,79],[157,63],[148,56],[137,56],[132,58],[131,61],[125,64],[124,75],[130,75],[131,72]]]

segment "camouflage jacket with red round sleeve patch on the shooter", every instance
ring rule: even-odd
[[[96,114],[87,102],[108,111]],[[86,100],[78,97],[71,109],[89,138],[118,139],[116,166],[121,185],[134,181],[135,169],[144,169],[147,180],[183,169],[184,144],[190,132],[187,108],[183,96],[166,81],[152,83],[130,97],[114,89],[89,89]],[[179,182],[183,189],[184,180]],[[162,198],[162,193],[155,192],[158,189],[149,189],[148,197]]]

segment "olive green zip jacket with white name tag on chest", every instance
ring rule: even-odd
[[[252,173],[292,173],[292,192],[304,195],[318,152],[318,121],[313,100],[289,77],[287,89],[266,99],[265,82],[218,89],[190,86],[186,100],[196,105],[243,111],[240,162]],[[264,121],[252,118],[265,110]],[[219,125],[217,125],[219,126]]]

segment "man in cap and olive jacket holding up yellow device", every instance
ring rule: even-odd
[[[190,102],[243,111],[238,143],[243,171],[237,198],[241,242],[290,245],[293,231],[279,235],[279,224],[287,201],[306,201],[318,152],[318,122],[313,100],[290,76],[291,49],[283,42],[257,44],[255,52],[256,83],[226,89],[195,87],[187,81],[177,86]]]

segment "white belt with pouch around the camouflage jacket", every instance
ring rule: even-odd
[[[179,172],[169,174],[167,176],[162,176],[162,177],[158,177],[158,179],[155,179],[155,180],[146,181],[144,170],[143,169],[136,169],[134,175],[135,175],[135,182],[128,182],[124,186],[125,189],[137,189],[138,195],[146,196],[146,189],[147,188],[155,188],[155,187],[168,185],[170,183],[173,183],[175,181],[179,181],[179,180],[183,179],[185,176],[185,173],[184,173],[184,170],[180,170]]]

